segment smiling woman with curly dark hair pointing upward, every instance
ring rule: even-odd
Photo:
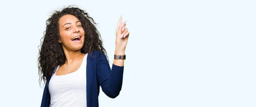
[[[112,69],[95,22],[76,7],[55,11],[47,27],[38,58],[41,107],[99,107],[99,86],[110,98],[122,88],[125,47],[129,32],[119,18]]]

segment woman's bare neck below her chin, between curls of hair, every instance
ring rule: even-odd
[[[64,49],[64,54],[66,56],[65,64],[71,64],[73,61],[81,58],[84,54],[81,53],[81,49],[76,51],[69,51],[67,49]]]

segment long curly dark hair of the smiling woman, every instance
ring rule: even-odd
[[[61,43],[58,43],[60,38],[59,33],[59,19],[66,15],[74,15],[82,24],[84,29],[84,45],[81,48],[82,53],[92,53],[93,51],[102,51],[107,56],[107,52],[103,47],[101,35],[96,29],[95,21],[89,16],[87,12],[78,7],[68,6],[61,11],[54,11],[49,19],[46,21],[46,31],[44,31],[43,42],[41,50],[39,49],[38,57],[38,74],[40,75],[39,84],[42,80],[46,83],[46,79],[54,73],[58,65],[62,65],[66,61],[64,50]],[[39,47],[38,46],[38,47]]]

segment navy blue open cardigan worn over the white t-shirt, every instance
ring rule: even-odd
[[[112,69],[108,63],[108,59],[101,51],[94,51],[87,55],[86,66],[86,93],[87,107],[99,107],[99,86],[102,91],[110,98],[116,98],[122,88],[124,67],[112,65]],[[47,78],[41,107],[49,107],[50,94],[48,89],[49,80]]]

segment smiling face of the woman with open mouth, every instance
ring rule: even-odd
[[[73,15],[67,14],[59,19],[60,40],[63,49],[76,51],[84,45],[84,29],[81,22]]]

